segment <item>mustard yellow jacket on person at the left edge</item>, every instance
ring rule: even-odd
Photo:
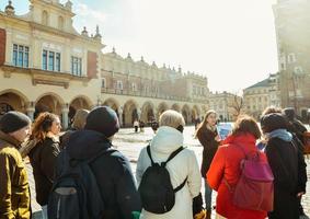
[[[28,180],[19,146],[0,131],[0,219],[31,218]]]

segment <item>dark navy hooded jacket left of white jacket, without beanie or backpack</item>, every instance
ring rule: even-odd
[[[102,134],[79,130],[70,135],[66,150],[70,158],[85,160],[112,147]],[[131,219],[133,211],[141,211],[129,161],[119,152],[103,153],[91,164],[104,201],[104,219]],[[57,165],[57,173],[61,166]]]

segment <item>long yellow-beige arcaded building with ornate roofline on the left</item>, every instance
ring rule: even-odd
[[[78,108],[110,105],[124,126],[147,123],[168,108],[187,123],[208,108],[207,78],[179,68],[159,68],[105,47],[99,27],[90,34],[72,26],[72,3],[31,0],[16,15],[9,1],[0,11],[0,113],[11,110],[35,118],[60,115],[66,128]]]

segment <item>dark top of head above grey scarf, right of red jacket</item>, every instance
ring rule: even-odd
[[[272,113],[261,118],[263,132],[271,132],[276,129],[287,129],[287,120],[280,113]]]

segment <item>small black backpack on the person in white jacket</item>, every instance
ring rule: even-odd
[[[153,214],[165,214],[173,208],[175,203],[174,194],[185,185],[187,177],[181,185],[173,188],[165,165],[183,149],[183,147],[180,147],[173,151],[165,162],[154,163],[151,157],[150,146],[147,147],[151,166],[145,171],[138,188],[145,210]]]

